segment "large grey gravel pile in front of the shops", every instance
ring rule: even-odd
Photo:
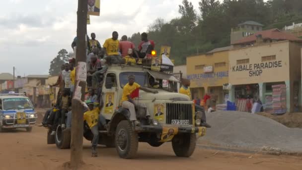
[[[207,114],[212,128],[200,142],[222,147],[252,150],[277,148],[283,152],[302,152],[302,129],[288,128],[264,116],[237,111]]]

